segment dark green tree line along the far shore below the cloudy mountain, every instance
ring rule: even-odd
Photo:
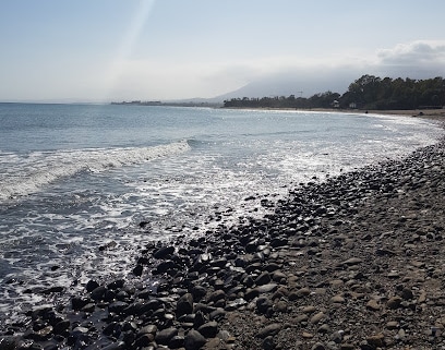
[[[341,108],[341,109],[428,109],[445,106],[445,80],[381,79],[362,75],[340,95],[330,90],[309,98],[294,95],[232,98],[224,101],[227,108]]]

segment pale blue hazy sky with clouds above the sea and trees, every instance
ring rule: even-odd
[[[363,74],[445,76],[444,15],[443,0],[0,0],[0,101],[309,97]]]

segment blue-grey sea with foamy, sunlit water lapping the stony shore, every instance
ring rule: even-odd
[[[148,242],[262,217],[293,188],[442,135],[368,113],[0,104],[0,324],[127,276]]]

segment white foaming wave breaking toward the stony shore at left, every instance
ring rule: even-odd
[[[187,141],[153,147],[99,148],[82,150],[34,152],[29,155],[0,157],[0,201],[38,192],[62,178],[83,171],[103,172],[183,153]]]

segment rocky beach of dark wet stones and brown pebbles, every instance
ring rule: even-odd
[[[262,219],[148,243],[68,304],[40,290],[0,349],[445,349],[444,203],[444,141],[313,179]]]

